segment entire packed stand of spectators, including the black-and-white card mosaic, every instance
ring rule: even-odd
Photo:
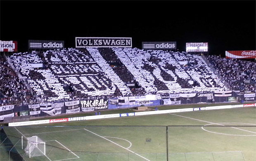
[[[254,90],[252,85],[241,83],[245,79],[255,82],[255,70],[247,70],[255,69],[255,63],[218,56],[207,59],[233,90]],[[229,90],[201,55],[187,52],[129,47],[64,48],[14,53],[7,60],[1,60],[1,77],[11,70],[8,63],[14,66],[19,84],[13,85],[21,84],[22,91],[34,92],[36,102]],[[22,83],[23,80],[26,81]],[[2,86],[1,91],[11,95]]]

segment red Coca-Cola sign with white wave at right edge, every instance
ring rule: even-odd
[[[226,59],[255,59],[256,50],[226,51]]]

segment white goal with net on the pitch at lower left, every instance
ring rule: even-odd
[[[27,137],[28,144],[26,146],[25,154],[30,157],[45,155],[45,142],[38,136]]]

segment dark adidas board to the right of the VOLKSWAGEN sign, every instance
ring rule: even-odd
[[[142,49],[144,50],[172,50],[176,49],[176,42],[142,42]]]

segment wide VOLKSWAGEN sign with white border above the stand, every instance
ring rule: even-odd
[[[76,37],[76,47],[132,47],[132,38]]]

